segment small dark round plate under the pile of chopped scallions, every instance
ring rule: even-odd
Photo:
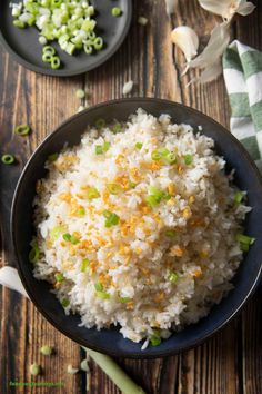
[[[39,30],[36,27],[19,29],[12,24],[10,0],[0,2],[0,40],[19,63],[32,71],[56,77],[71,77],[90,71],[118,50],[129,31],[132,17],[131,0],[92,0],[91,3],[97,10],[97,32],[103,38],[104,48],[95,55],[81,51],[75,56],[69,56],[60,49],[58,42],[53,41],[51,45],[62,62],[59,70],[52,70],[48,63],[42,62],[42,46],[38,42]],[[111,14],[113,7],[121,8],[121,17],[115,18]]]

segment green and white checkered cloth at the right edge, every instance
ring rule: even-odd
[[[233,41],[223,56],[230,127],[262,171],[262,52]]]

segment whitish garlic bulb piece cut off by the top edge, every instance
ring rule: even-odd
[[[200,6],[209,12],[215,13],[225,20],[231,20],[235,13],[248,16],[255,6],[246,0],[199,0]]]

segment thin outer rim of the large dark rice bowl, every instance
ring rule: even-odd
[[[53,318],[42,308],[41,305],[38,304],[38,302],[34,298],[34,293],[31,290],[31,287],[28,286],[28,282],[27,282],[27,277],[23,273],[23,269],[21,268],[21,260],[19,258],[19,255],[17,253],[17,234],[14,232],[14,217],[16,217],[16,213],[17,213],[17,200],[18,200],[18,195],[20,193],[20,187],[22,185],[23,178],[27,175],[27,171],[29,169],[29,167],[31,166],[32,159],[38,156],[38,154],[42,150],[42,148],[46,146],[46,144],[48,144],[48,141],[50,139],[53,138],[54,135],[59,134],[61,129],[63,129],[64,125],[70,125],[71,122],[73,122],[78,117],[83,116],[83,114],[89,114],[90,111],[97,109],[97,108],[101,108],[101,107],[105,107],[105,106],[110,106],[110,105],[121,105],[122,102],[133,102],[133,104],[138,104],[138,108],[140,106],[142,106],[144,102],[154,102],[154,104],[167,104],[169,106],[178,106],[181,107],[183,109],[185,109],[187,111],[190,111],[194,115],[200,115],[203,118],[205,118],[208,121],[210,121],[211,124],[216,124],[220,128],[221,128],[221,132],[225,134],[226,136],[230,137],[230,139],[232,140],[233,144],[235,144],[241,154],[244,156],[244,159],[248,160],[248,162],[251,165],[252,170],[254,171],[254,175],[258,178],[258,181],[260,184],[260,190],[261,190],[261,196],[262,196],[262,176],[256,167],[256,165],[254,164],[254,160],[250,157],[249,152],[244,149],[243,145],[221,124],[219,124],[216,120],[214,120],[213,118],[209,117],[208,115],[191,108],[189,106],[185,106],[183,104],[177,102],[177,101],[171,101],[171,100],[167,100],[167,99],[160,99],[160,98],[142,98],[142,97],[133,97],[133,98],[121,98],[121,99],[114,99],[114,100],[108,100],[108,101],[103,101],[103,102],[99,102],[92,107],[89,107],[80,112],[74,114],[73,116],[69,117],[68,119],[66,119],[63,122],[61,122],[57,128],[54,128],[41,142],[40,145],[37,147],[37,149],[33,151],[33,154],[30,156],[30,158],[28,159],[24,168],[22,169],[22,173],[19,177],[19,180],[17,183],[14,193],[13,193],[13,199],[12,199],[12,205],[11,205],[11,215],[10,215],[10,227],[11,227],[11,243],[13,246],[13,250],[14,250],[14,257],[16,257],[16,266],[18,267],[18,273],[19,276],[21,278],[21,282],[30,297],[30,301],[32,301],[33,305],[37,307],[37,309],[40,312],[41,315],[44,316],[44,318],[54,327],[57,328],[60,333],[62,333],[63,335],[66,335],[67,337],[69,337],[70,339],[74,341],[75,343],[80,344],[83,347],[90,347],[93,351],[100,352],[100,353],[104,353],[104,354],[109,354],[111,356],[117,356],[117,357],[127,357],[127,358],[133,358],[133,359],[153,359],[153,358],[159,358],[159,357],[168,357],[174,354],[179,354],[181,352],[185,352],[189,351],[191,348],[194,348],[199,345],[201,345],[202,343],[204,343],[206,339],[209,339],[210,337],[212,337],[214,334],[216,334],[218,332],[220,332],[225,325],[228,325],[233,318],[235,318],[241,309],[243,308],[243,306],[246,304],[246,302],[250,299],[250,297],[254,294],[261,278],[262,278],[262,258],[261,258],[261,266],[260,269],[258,272],[258,275],[255,277],[255,280],[253,282],[251,288],[249,289],[249,292],[245,294],[243,301],[241,302],[241,304],[230,314],[230,316],[225,319],[223,319],[220,324],[218,324],[213,329],[210,329],[208,332],[208,334],[205,334],[202,338],[200,339],[195,339],[193,341],[191,344],[189,344],[188,346],[181,346],[178,347],[175,349],[165,349],[165,351],[159,351],[155,352],[154,354],[144,354],[140,351],[139,352],[134,352],[134,353],[129,353],[129,352],[107,352],[104,351],[104,348],[100,347],[100,346],[95,346],[95,345],[87,345],[87,343],[84,341],[82,341],[81,338],[78,337],[78,335],[74,335],[73,333],[68,333],[63,327],[59,326],[59,324],[57,322],[53,321]],[[37,279],[36,279],[37,280]]]

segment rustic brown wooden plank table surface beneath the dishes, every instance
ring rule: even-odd
[[[254,1],[255,2],[255,1]],[[80,105],[75,90],[87,89],[87,104],[93,105],[122,97],[122,86],[132,79],[132,96],[171,99],[192,106],[229,127],[230,108],[223,79],[206,85],[191,85],[191,71],[180,78],[183,56],[170,42],[171,28],[192,26],[206,43],[215,17],[203,11],[196,0],[180,0],[175,16],[169,20],[164,0],[134,0],[130,33],[121,49],[105,65],[74,78],[36,75],[14,62],[0,47],[0,152],[16,152],[16,166],[0,166],[0,266],[16,266],[10,245],[9,211],[12,193],[27,159],[36,147]],[[262,4],[238,18],[232,37],[262,49]],[[137,23],[139,16],[149,24]],[[83,102],[82,102],[83,104]],[[28,124],[30,138],[17,138],[13,125]],[[147,393],[159,394],[260,394],[262,393],[262,309],[261,288],[242,314],[203,345],[164,359],[117,362]],[[14,392],[10,381],[30,382],[29,365],[43,366],[40,382],[62,382],[63,388],[20,387],[16,393],[85,393],[83,374],[67,374],[67,365],[79,365],[80,346],[56,331],[37,312],[33,304],[14,292],[0,288],[0,393]],[[53,344],[57,354],[41,357],[42,344]],[[89,393],[120,393],[93,363]]]

